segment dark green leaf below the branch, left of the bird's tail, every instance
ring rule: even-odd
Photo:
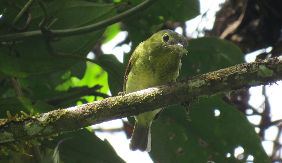
[[[60,160],[68,163],[125,163],[107,142],[99,139],[93,132],[87,129],[77,130],[52,137],[53,141],[43,140],[41,144],[49,148],[55,148],[58,142],[70,138],[61,143]]]

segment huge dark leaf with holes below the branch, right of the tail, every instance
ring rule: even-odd
[[[219,116],[215,116],[215,110],[219,110]],[[254,162],[270,162],[254,126],[222,99],[201,99],[189,111],[192,121],[187,120],[180,106],[166,108],[151,125],[149,155],[155,162],[237,163],[234,149],[238,146],[244,149],[244,158],[239,162],[245,162],[249,155]],[[227,153],[231,156],[226,157]]]

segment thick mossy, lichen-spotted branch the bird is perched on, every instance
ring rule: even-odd
[[[148,88],[39,116],[0,119],[0,143],[46,137],[92,124],[130,117],[161,107],[191,103],[199,98],[271,85],[282,79],[282,57],[235,65],[177,82]]]

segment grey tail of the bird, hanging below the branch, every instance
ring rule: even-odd
[[[151,126],[141,127],[136,122],[129,143],[131,151],[151,151]]]

